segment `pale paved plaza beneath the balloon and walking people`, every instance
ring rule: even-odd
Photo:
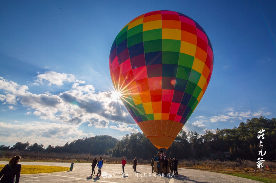
[[[0,162],[0,164],[7,164],[8,162]],[[22,165],[52,165],[52,166],[66,166],[70,167],[71,163],[44,163],[44,162],[20,162]],[[126,183],[126,182],[141,182],[141,183],[209,183],[209,182],[241,182],[241,183],[257,183],[259,181],[253,181],[246,178],[240,178],[231,175],[224,175],[214,172],[205,172],[192,169],[178,169],[178,177],[158,177],[158,175],[151,174],[151,166],[137,165],[137,174],[133,172],[132,165],[125,166],[125,173],[128,175],[123,177],[121,175],[122,165],[117,164],[103,164],[103,172],[107,172],[103,177],[96,177],[91,174],[91,164],[89,163],[75,163],[74,169],[71,172],[57,172],[57,173],[46,173],[46,174],[26,174],[20,176],[20,183],[22,182],[51,182],[51,183],[62,183],[62,182],[106,182],[106,183]],[[97,173],[97,172],[96,172]],[[118,175],[119,174],[119,175]],[[146,177],[145,177],[146,176]],[[111,178],[109,178],[111,177]]]

